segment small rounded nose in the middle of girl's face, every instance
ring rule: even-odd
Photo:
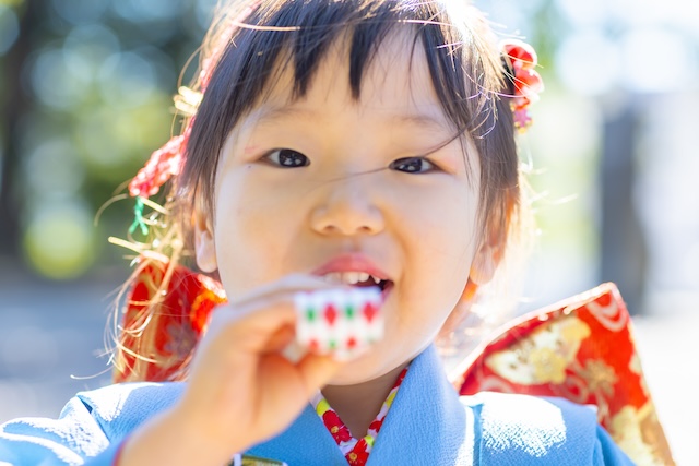
[[[331,181],[318,193],[311,213],[311,228],[322,235],[377,235],[384,228],[384,217],[377,195],[363,176]]]

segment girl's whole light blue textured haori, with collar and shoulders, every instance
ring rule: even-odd
[[[104,465],[141,422],[173,405],[182,383],[125,383],[79,393],[59,419],[0,426],[0,465]],[[308,405],[249,453],[288,466],[346,466]],[[4,463],[3,463],[4,462]],[[367,466],[631,465],[592,409],[564,399],[481,393],[459,397],[430,346],[411,365]]]

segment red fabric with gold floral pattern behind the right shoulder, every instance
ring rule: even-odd
[[[614,284],[510,322],[452,375],[462,395],[496,391],[595,405],[600,423],[636,464],[675,464]]]

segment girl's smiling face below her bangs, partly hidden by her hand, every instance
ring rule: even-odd
[[[494,268],[476,222],[477,154],[467,142],[447,143],[453,126],[423,48],[389,37],[358,100],[347,76],[344,44],[298,100],[282,71],[224,146],[213,216],[196,215],[198,263],[218,270],[232,300],[292,273],[386,280],[384,338],[333,384],[371,380],[415,357],[467,304],[470,277],[485,283]]]

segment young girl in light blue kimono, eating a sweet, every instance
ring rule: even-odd
[[[460,398],[434,346],[520,226],[528,49],[500,50],[458,0],[239,0],[210,39],[201,94],[178,100],[182,135],[131,192],[147,202],[177,175],[181,222],[156,252],[173,264],[191,240],[228,303],[186,382],[116,384],[58,420],[9,422],[0,463],[630,464],[587,407]],[[297,292],[366,284],[381,289],[379,342],[351,360],[285,357]]]

